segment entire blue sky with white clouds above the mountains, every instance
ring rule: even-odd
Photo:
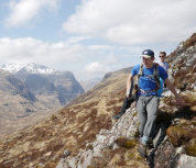
[[[77,79],[173,52],[196,32],[195,0],[1,0],[0,63],[37,63]]]

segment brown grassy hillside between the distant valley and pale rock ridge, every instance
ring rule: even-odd
[[[77,154],[100,128],[111,126],[110,116],[121,107],[127,77],[124,72],[113,74],[57,114],[8,137],[7,143],[0,142],[0,167],[46,165],[52,159],[57,164],[64,149]]]

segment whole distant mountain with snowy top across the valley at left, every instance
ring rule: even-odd
[[[30,126],[84,92],[70,71],[36,64],[0,68],[13,72],[0,70],[0,136]]]

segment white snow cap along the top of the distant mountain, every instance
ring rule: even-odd
[[[52,68],[48,68],[43,65],[39,65],[35,63],[30,64],[1,64],[0,69],[8,70],[12,74],[15,74],[20,70],[29,72],[29,74],[57,74],[58,71]]]

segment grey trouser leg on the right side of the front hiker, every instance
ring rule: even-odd
[[[155,131],[156,126],[156,116],[157,116],[157,110],[159,110],[159,101],[160,99],[157,97],[153,97],[148,103],[146,103],[146,115],[148,120],[143,130],[143,135],[146,137],[151,137],[153,131]]]

